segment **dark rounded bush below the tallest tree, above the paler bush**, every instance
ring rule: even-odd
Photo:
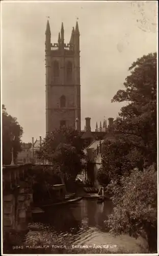
[[[105,140],[102,145],[102,167],[97,179],[102,183],[102,177],[108,176],[108,179],[116,179],[125,173],[129,173],[133,168],[140,167],[143,169],[143,156],[131,145],[128,140],[123,140],[114,134],[114,141]],[[106,178],[106,177],[105,177]]]

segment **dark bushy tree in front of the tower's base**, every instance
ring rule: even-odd
[[[66,127],[52,132],[44,139],[38,157],[54,164],[64,179],[75,180],[84,167],[82,159],[85,158],[80,134]]]

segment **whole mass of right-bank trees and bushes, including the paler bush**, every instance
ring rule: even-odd
[[[108,226],[115,235],[146,234],[150,252],[156,252],[157,225],[157,117],[156,53],[138,58],[129,68],[112,102],[127,102],[114,121],[114,140],[103,144],[103,167],[98,180],[108,185],[114,202]]]

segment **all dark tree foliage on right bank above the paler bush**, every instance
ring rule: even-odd
[[[127,101],[103,143],[103,169],[111,179],[134,167],[156,163],[156,53],[144,55],[129,68],[130,75],[112,102]]]

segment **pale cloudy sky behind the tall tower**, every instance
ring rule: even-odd
[[[131,63],[157,48],[156,2],[26,2],[2,4],[2,101],[23,127],[23,142],[45,137],[45,29],[57,42],[64,23],[68,43],[80,29],[82,129],[85,117],[116,118],[123,103],[111,99]]]

